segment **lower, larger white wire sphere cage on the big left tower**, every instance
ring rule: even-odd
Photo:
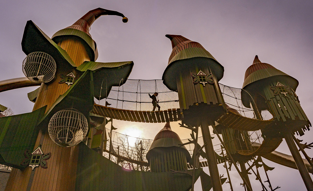
[[[80,143],[88,131],[87,118],[80,111],[67,108],[56,112],[50,119],[48,132],[55,144],[73,147]]]

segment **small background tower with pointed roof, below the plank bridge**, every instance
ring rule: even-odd
[[[173,132],[167,122],[161,131],[156,134],[146,155],[153,173],[182,171],[187,169],[187,162],[191,159],[185,146],[180,147],[181,139]]]

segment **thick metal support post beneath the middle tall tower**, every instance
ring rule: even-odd
[[[211,134],[210,134],[207,121],[201,122],[201,132],[203,136],[203,142],[207,143],[207,145],[204,146],[204,149],[205,149],[205,153],[207,157],[208,168],[209,168],[209,172],[211,176],[213,191],[223,191],[221,178],[220,178],[217,164],[216,164],[216,158],[215,158],[215,152],[213,149]]]

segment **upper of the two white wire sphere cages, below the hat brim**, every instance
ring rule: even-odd
[[[23,73],[31,81],[46,83],[54,78],[57,65],[47,53],[32,52],[23,60]]]

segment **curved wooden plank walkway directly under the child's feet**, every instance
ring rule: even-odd
[[[179,108],[170,109],[168,111],[132,111],[94,104],[94,108],[91,113],[117,120],[146,123],[164,123],[182,120]]]

